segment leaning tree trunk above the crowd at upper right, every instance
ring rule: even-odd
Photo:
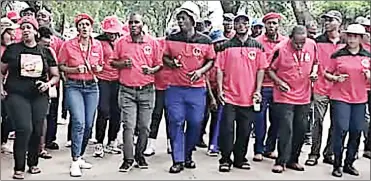
[[[314,20],[305,1],[291,1],[291,6],[299,25],[307,25]]]

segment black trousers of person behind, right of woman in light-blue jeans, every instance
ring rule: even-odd
[[[118,106],[119,83],[117,81],[99,80],[99,104],[95,138],[103,144],[106,135],[107,120],[108,143],[115,141],[120,130],[120,108]]]

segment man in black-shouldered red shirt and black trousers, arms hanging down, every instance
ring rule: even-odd
[[[249,17],[237,15],[234,27],[236,35],[222,45],[217,59],[219,99],[224,104],[219,130],[220,172],[229,172],[232,163],[236,168],[250,169],[245,156],[254,120],[253,105],[261,101],[264,69],[268,67],[262,45],[248,34]]]

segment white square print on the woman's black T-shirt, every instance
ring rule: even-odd
[[[21,54],[21,76],[38,78],[44,68],[40,55]]]

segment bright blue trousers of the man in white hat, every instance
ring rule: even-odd
[[[170,86],[166,90],[165,106],[174,163],[192,160],[192,149],[199,139],[205,104],[205,88]],[[187,128],[184,132],[185,122]]]

